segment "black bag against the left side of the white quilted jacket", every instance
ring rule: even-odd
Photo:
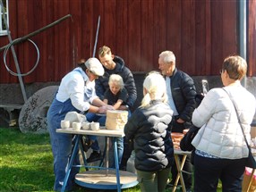
[[[194,146],[192,146],[192,139],[196,136],[199,129],[200,128],[192,125],[192,127],[189,129],[189,131],[183,136],[183,138],[180,142],[180,148],[183,151],[193,151],[194,150]]]

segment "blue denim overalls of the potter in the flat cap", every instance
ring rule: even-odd
[[[52,153],[54,156],[55,191],[61,191],[64,184],[64,177],[73,148],[73,135],[56,133],[56,129],[61,128],[60,121],[64,120],[64,116],[68,111],[75,111],[70,100],[61,103],[55,99],[47,112],[47,127],[51,139]],[[80,164],[78,155],[76,155],[74,159],[74,164]],[[70,177],[67,180],[65,191],[73,188],[73,180],[75,174],[78,172],[79,168],[72,168]]]

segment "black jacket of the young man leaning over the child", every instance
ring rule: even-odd
[[[123,78],[124,87],[128,91],[128,99],[126,101],[126,104],[132,107],[137,99],[137,90],[133,79],[132,71],[130,71],[127,67],[124,66],[124,60],[121,57],[115,56],[113,61],[116,64],[115,69],[107,70],[106,68],[104,68],[104,75],[102,77],[98,77],[98,79],[95,80],[96,94],[101,100],[103,100],[104,93],[107,90],[107,88],[109,88],[109,76],[112,74],[118,74]]]

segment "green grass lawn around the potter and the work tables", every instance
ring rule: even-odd
[[[52,192],[54,180],[53,156],[48,134],[23,134],[18,128],[0,128],[0,192]],[[221,185],[218,191],[221,191],[220,188]],[[75,191],[96,190],[77,188]],[[141,190],[137,185],[123,191]],[[171,189],[166,190],[169,191]]]

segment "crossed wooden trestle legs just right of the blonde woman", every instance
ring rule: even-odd
[[[176,163],[178,173],[177,173],[177,176],[176,176],[176,179],[175,179],[175,185],[174,185],[174,188],[173,188],[172,192],[175,192],[179,179],[181,179],[183,192],[186,192],[186,187],[185,187],[185,183],[184,183],[184,179],[183,179],[183,172],[182,172],[183,165],[185,163],[186,158],[187,158],[187,155],[183,154],[182,163],[180,163],[179,155],[175,154],[175,163]]]

